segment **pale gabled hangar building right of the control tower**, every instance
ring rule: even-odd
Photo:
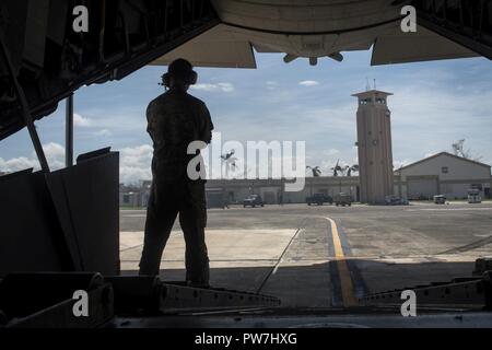
[[[466,198],[468,190],[479,189],[491,198],[491,166],[441,152],[403,166],[395,172],[395,194],[409,199],[445,195],[448,199]]]

